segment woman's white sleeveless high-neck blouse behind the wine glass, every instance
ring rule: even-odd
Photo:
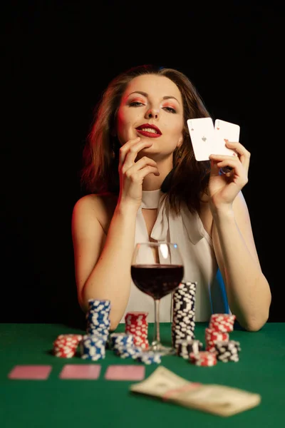
[[[217,275],[218,266],[214,255],[212,238],[209,236],[197,213],[192,214],[187,205],[182,205],[181,214],[175,215],[165,204],[166,194],[160,189],[142,191],[142,203],[135,226],[135,244],[148,242],[142,208],[157,208],[157,220],[151,238],[158,242],[177,243],[184,262],[183,281],[197,281],[195,320],[208,321],[212,313],[230,313],[224,282]],[[152,297],[141,292],[131,283],[127,312],[148,312],[147,321],[154,321],[155,307]],[[120,322],[125,322],[125,314]],[[171,294],[160,300],[160,322],[171,320]]]

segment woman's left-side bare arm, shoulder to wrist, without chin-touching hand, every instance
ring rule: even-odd
[[[128,304],[130,263],[135,240],[136,210],[117,205],[105,234],[98,213],[100,200],[88,195],[73,208],[72,237],[78,288],[78,302],[84,311],[88,299],[111,302],[111,330]]]

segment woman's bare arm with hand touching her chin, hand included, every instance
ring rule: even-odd
[[[87,310],[88,299],[110,300],[111,330],[118,326],[128,305],[142,181],[150,173],[160,175],[156,162],[147,156],[135,161],[138,152],[150,146],[152,143],[134,138],[120,148],[120,195],[110,226],[105,225],[106,232],[100,218],[107,218],[108,214],[102,215],[100,198],[85,196],[73,208],[72,237],[78,301],[83,310]]]

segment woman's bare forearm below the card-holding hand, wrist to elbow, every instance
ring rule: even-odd
[[[241,192],[232,210],[214,214],[212,238],[229,307],[242,327],[257,331],[269,317],[271,292],[261,271],[247,204]]]

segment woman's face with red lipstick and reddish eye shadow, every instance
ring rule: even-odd
[[[118,111],[121,146],[140,136],[142,141],[152,141],[144,152],[165,158],[182,144],[183,123],[182,96],[169,78],[144,74],[130,81]]]

